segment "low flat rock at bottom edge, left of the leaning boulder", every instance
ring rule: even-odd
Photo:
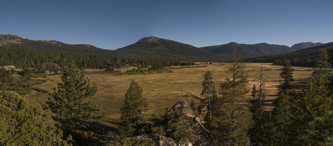
[[[143,134],[137,136],[137,138],[138,140],[150,138],[155,142],[154,146],[177,146],[172,139],[158,134]]]

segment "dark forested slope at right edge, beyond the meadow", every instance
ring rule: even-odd
[[[274,65],[284,65],[290,63],[293,66],[310,66],[313,67],[315,59],[318,57],[321,49],[326,49],[329,55],[329,62],[333,60],[333,43],[301,49],[292,53],[260,56],[246,58],[245,62],[273,63]]]

